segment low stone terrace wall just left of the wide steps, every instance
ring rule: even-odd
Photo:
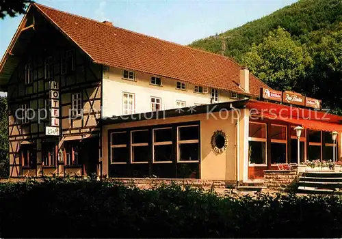
[[[286,188],[296,180],[297,171],[291,170],[264,170],[264,185],[270,189]]]

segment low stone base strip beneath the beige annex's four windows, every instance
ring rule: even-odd
[[[227,186],[231,186],[236,184],[234,181],[225,181],[225,180],[200,180],[200,179],[160,179],[160,178],[111,178],[113,181],[123,182],[125,185],[134,184],[140,188],[150,188],[153,186],[158,186],[161,184],[174,184],[177,185],[192,185],[192,186],[200,186],[203,188],[226,188]]]

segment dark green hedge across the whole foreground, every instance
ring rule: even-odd
[[[0,184],[1,238],[317,238],[342,235],[340,197],[237,196],[187,186],[47,179]]]

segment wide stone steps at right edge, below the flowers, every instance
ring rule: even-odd
[[[342,173],[304,172],[298,178],[298,193],[341,194]]]

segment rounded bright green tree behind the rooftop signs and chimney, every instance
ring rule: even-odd
[[[304,46],[296,44],[290,33],[278,27],[260,44],[252,44],[242,64],[274,89],[298,90],[313,61]]]

